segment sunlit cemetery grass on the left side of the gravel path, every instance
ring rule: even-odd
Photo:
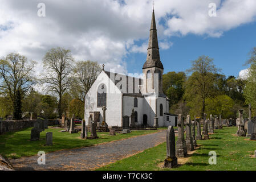
[[[6,133],[0,135],[0,154],[7,156],[7,158],[18,159],[22,156],[34,156],[38,154],[38,151],[54,152],[59,150],[67,150],[79,147],[88,147],[95,144],[111,142],[113,140],[126,139],[139,135],[156,133],[159,130],[146,130],[146,131],[132,131],[129,134],[116,133],[116,136],[110,136],[108,133],[99,133],[97,135],[99,139],[81,139],[80,132],[70,134],[68,132],[60,132],[63,129],[46,129],[40,133],[39,141],[30,141],[31,129],[25,129],[17,132]],[[52,132],[53,145],[44,146],[46,144],[46,133]],[[88,132],[88,136],[91,133]]]

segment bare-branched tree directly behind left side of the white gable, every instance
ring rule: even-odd
[[[101,67],[94,61],[78,61],[74,68],[74,77],[72,77],[71,94],[84,102],[88,90],[94,84]]]

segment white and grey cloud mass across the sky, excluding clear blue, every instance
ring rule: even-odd
[[[40,0],[1,0],[0,56],[19,52],[40,63],[46,51],[61,46],[77,60],[94,60],[127,72],[128,53],[147,52],[152,1],[45,0],[46,17],[37,16]],[[217,4],[217,17],[208,5]],[[254,0],[156,0],[155,14],[161,49],[172,46],[172,35],[220,37],[231,28],[253,22]],[[159,24],[159,20],[163,24]],[[141,46],[135,44],[140,40]],[[42,64],[36,71],[40,73]]]

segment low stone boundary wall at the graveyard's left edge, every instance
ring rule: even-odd
[[[35,121],[36,120],[0,121],[0,134],[26,129],[28,127],[34,127]]]

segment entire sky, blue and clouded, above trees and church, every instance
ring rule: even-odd
[[[71,49],[116,72],[140,73],[146,59],[152,0],[0,0],[0,56],[19,52],[38,61],[53,47]],[[46,17],[38,16],[38,4]],[[217,16],[209,16],[216,3]],[[226,76],[238,76],[256,43],[255,0],[155,0],[165,73],[185,71],[200,55]],[[241,73],[245,73],[242,71]]]

